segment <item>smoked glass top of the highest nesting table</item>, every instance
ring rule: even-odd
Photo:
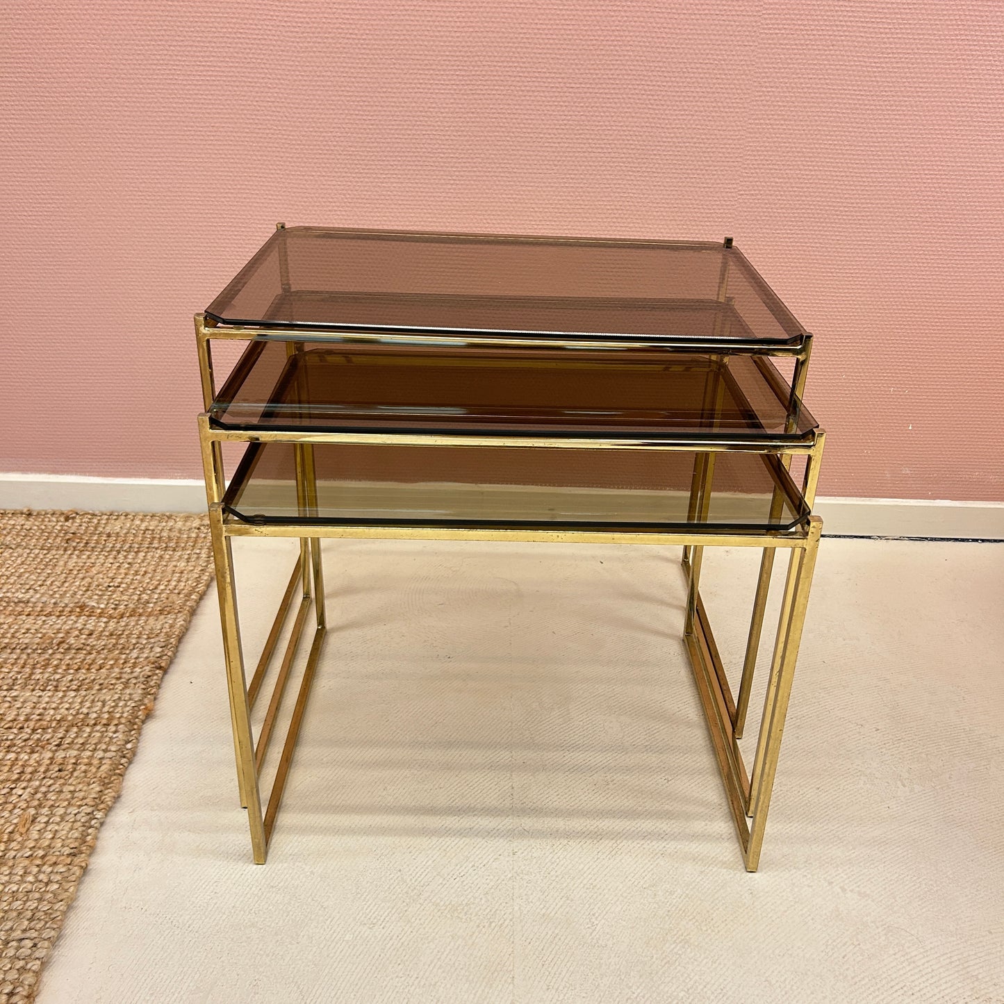
[[[291,227],[206,313],[277,337],[366,330],[768,347],[804,338],[742,253],[712,242]]]

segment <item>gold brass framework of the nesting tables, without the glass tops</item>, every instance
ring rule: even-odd
[[[724,296],[725,279],[720,285]],[[297,498],[301,516],[309,516],[316,505],[316,484],[313,473],[313,444],[315,443],[366,443],[395,444],[399,446],[465,446],[485,449],[505,447],[561,447],[564,449],[616,449],[671,450],[696,454],[695,472],[692,484],[691,511],[698,515],[707,507],[714,460],[720,452],[752,452],[776,456],[788,469],[794,456],[805,457],[802,477],[802,495],[811,508],[815,496],[815,486],[819,473],[825,434],[818,430],[814,435],[793,442],[789,437],[750,443],[740,438],[723,436],[708,441],[704,439],[681,438],[672,443],[652,440],[603,440],[583,437],[581,439],[549,439],[545,436],[526,438],[513,437],[469,437],[469,436],[423,436],[403,434],[340,434],[340,433],[293,433],[277,430],[242,432],[219,429],[213,426],[208,414],[215,399],[210,341],[214,338],[258,340],[275,338],[277,332],[267,328],[240,325],[217,325],[205,314],[197,314],[196,335],[202,380],[205,411],[199,416],[199,436],[202,449],[203,467],[206,479],[206,494],[209,506],[213,551],[223,626],[223,643],[227,669],[227,687],[230,701],[231,724],[234,736],[234,753],[237,765],[238,790],[241,804],[248,810],[251,830],[251,846],[254,860],[263,863],[275,825],[283,789],[289,773],[290,763],[299,735],[303,714],[309,698],[310,687],[317,668],[326,634],[324,608],[323,572],[320,552],[322,538],[376,538],[376,539],[437,539],[437,540],[509,540],[547,542],[599,542],[624,544],[683,545],[683,569],[687,579],[687,608],[684,626],[684,642],[691,662],[691,669],[708,724],[709,735],[715,751],[719,772],[725,786],[726,797],[732,811],[736,831],[742,849],[746,869],[755,871],[760,860],[760,851],[767,821],[781,737],[787,715],[791,682],[799,643],[804,628],[805,611],[808,604],[812,572],[822,529],[822,521],[817,516],[807,516],[791,530],[765,530],[749,532],[716,531],[712,529],[683,532],[628,532],[619,530],[562,529],[536,530],[518,527],[507,529],[483,528],[433,528],[394,527],[366,525],[312,524],[309,528],[302,524],[250,524],[228,515],[223,499],[226,476],[223,466],[222,444],[225,442],[268,443],[287,442],[295,444]],[[332,333],[326,335],[328,338]],[[337,332],[344,339],[344,332]],[[302,350],[307,341],[323,340],[322,331],[297,333],[284,340],[288,350]],[[388,340],[386,333],[355,332],[352,339],[367,340],[379,338]],[[415,341],[415,335],[409,335]],[[421,337],[418,340],[425,340]],[[443,344],[441,336],[428,340]],[[477,341],[477,338],[463,337],[462,342]],[[492,337],[492,343],[500,339]],[[501,339],[506,343],[536,344],[535,339]],[[550,341],[547,344],[553,345]],[[561,341],[561,345],[574,346],[574,342]],[[595,344],[595,342],[591,342]],[[624,342],[618,341],[623,346]],[[700,349],[698,349],[700,350]],[[801,398],[811,351],[811,336],[795,349],[771,348],[771,355],[792,355],[795,370],[791,394]],[[719,356],[719,364],[727,365],[727,356]],[[786,390],[786,389],[784,389]],[[781,389],[775,388],[780,394]],[[714,395],[713,395],[714,397]],[[712,403],[713,404],[713,403]],[[793,426],[789,425],[789,432]],[[780,512],[783,497],[780,482],[775,489],[772,510]],[[300,540],[300,554],[297,558],[283,594],[278,612],[265,641],[262,653],[256,663],[250,682],[245,673],[244,656],[237,609],[237,595],[234,581],[234,566],[231,541],[233,537],[290,537]],[[708,612],[701,598],[699,580],[703,548],[705,546],[759,547],[763,549],[760,573],[757,580],[753,614],[743,664],[740,688],[733,698],[722,660],[715,644]],[[774,554],[779,548],[789,554],[787,576],[770,672],[766,698],[761,718],[752,772],[748,772],[739,751],[737,740],[742,737],[747,716],[753,674],[766,609]],[[299,597],[299,602],[294,600]],[[274,723],[289,681],[291,667],[300,648],[307,615],[314,609],[314,634],[301,679],[299,692],[293,707],[292,719],[279,758],[278,770],[267,802],[263,803],[259,788],[260,770],[265,752],[272,738]],[[265,720],[259,730],[257,741],[251,725],[251,710],[259,697],[265,679],[278,647],[278,641],[290,612],[295,608],[293,626],[279,666],[273,693],[269,700]],[[264,807],[263,807],[264,806]],[[748,820],[748,821],[747,821]]]

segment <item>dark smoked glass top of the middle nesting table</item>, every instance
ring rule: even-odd
[[[764,356],[251,342],[210,409],[232,430],[763,441],[816,422]]]

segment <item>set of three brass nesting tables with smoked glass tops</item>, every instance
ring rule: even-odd
[[[730,238],[279,224],[196,315],[196,333],[255,861],[265,860],[328,628],[321,539],[536,540],[683,548],[684,641],[743,860],[756,870],[822,526],[811,510],[824,435],[801,404],[811,335]],[[218,339],[247,343],[220,388]],[[243,445],[230,472],[226,443]],[[231,541],[264,536],[297,538],[299,556],[259,658],[245,664]],[[706,546],[763,551],[735,692],[698,588]],[[778,549],[787,576],[747,770],[738,740]],[[266,799],[259,779],[308,624]],[[268,705],[253,727],[259,700]]]

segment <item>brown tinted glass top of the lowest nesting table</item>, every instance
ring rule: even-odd
[[[790,528],[807,516],[776,457],[718,453],[693,515],[693,453],[522,447],[312,447],[316,503],[297,501],[289,443],[248,447],[224,504],[250,522],[658,531]],[[306,448],[311,449],[311,448]],[[300,454],[300,462],[305,458]],[[779,502],[771,509],[772,500]]]

